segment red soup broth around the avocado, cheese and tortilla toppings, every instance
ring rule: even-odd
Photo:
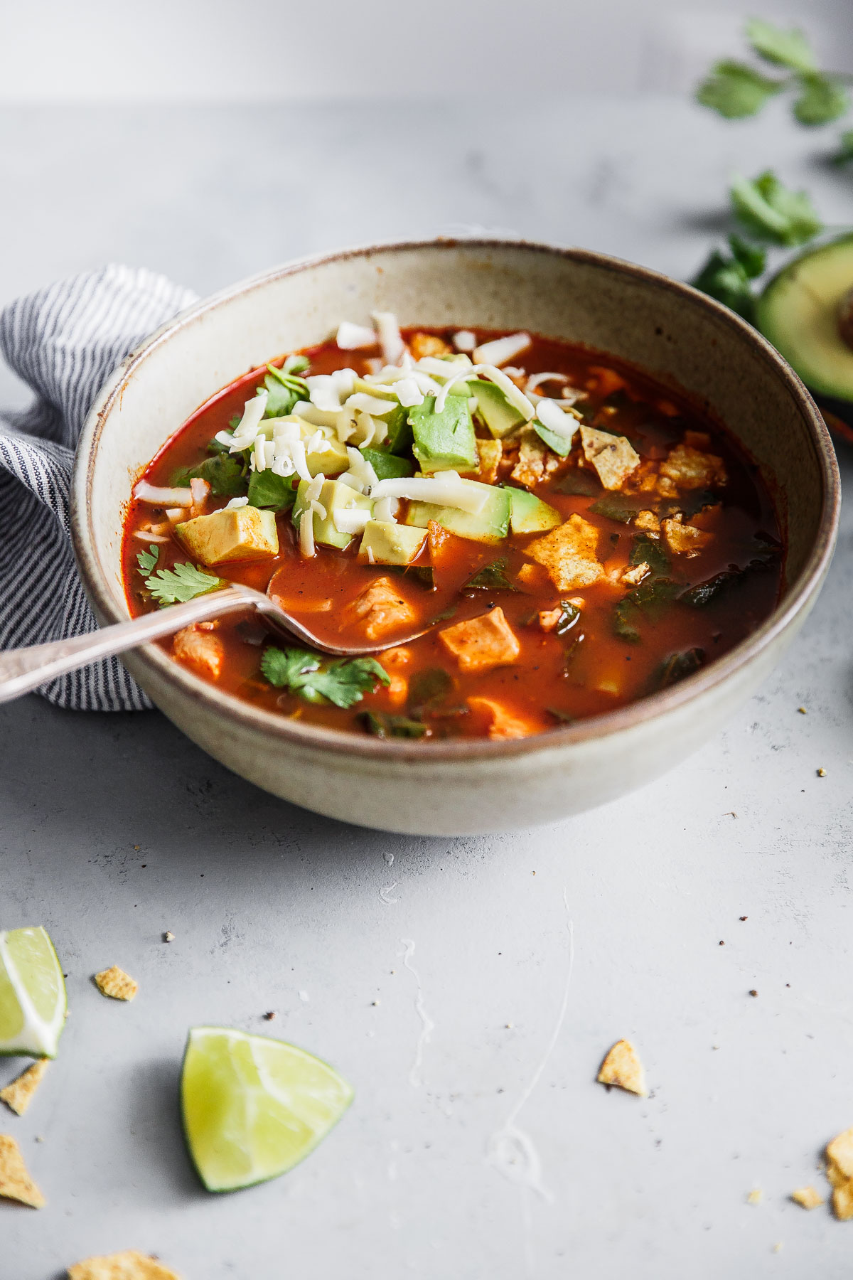
[[[414,333],[404,330],[404,337],[412,340]],[[451,337],[451,330],[417,330],[425,333],[448,344]],[[477,332],[478,342],[495,337],[499,334]],[[344,367],[364,375],[376,367],[377,351],[340,351],[330,342],[304,355],[311,362],[309,375]],[[280,366],[281,357],[274,362]],[[487,545],[445,532],[440,545],[435,545],[437,539],[427,539],[414,566],[432,568],[430,589],[423,575],[413,570],[398,572],[359,562],[358,535],[345,550],[317,545],[316,556],[304,558],[290,513],[283,512],[276,516],[276,557],[235,561],[210,572],[261,591],[276,575],[276,590],[286,608],[331,644],[366,643],[363,625],[354,617],[348,620],[348,605],[377,579],[390,579],[411,605],[416,623],[409,631],[435,620],[434,626],[407,644],[404,654],[394,635],[379,640],[390,650],[377,653],[390,684],[377,682],[361,701],[339,708],[307,701],[269,684],[261,671],[262,653],[267,645],[284,643],[271,637],[256,617],[229,614],[215,625],[221,654],[215,684],[220,690],[274,714],[358,733],[400,732],[425,741],[515,737],[625,707],[714,662],[763,622],[780,591],[779,526],[758,468],[725,429],[671,389],[586,348],[533,338],[514,364],[523,365],[523,374],[513,372],[520,387],[540,371],[563,375],[567,383],[547,384],[549,393],[559,397],[563,385],[569,388],[584,424],[627,436],[639,456],[636,475],[619,490],[609,492],[575,436],[570,454],[559,463],[556,456],[549,457],[551,470],[528,485],[563,521],[577,513],[595,526],[597,558],[606,577],[583,589],[560,591],[526,554],[542,534],[510,534],[499,545]],[[210,457],[211,439],[242,413],[265,372],[260,366],[212,396],[175,431],[142,479],[168,486],[176,471]],[[489,435],[481,424],[476,429],[478,436]],[[660,480],[661,465],[685,439],[698,442],[700,452],[721,460],[724,483],[697,490]],[[514,485],[517,465],[518,443],[505,440],[495,483]],[[657,477],[664,494],[639,488],[643,483],[648,486],[648,477]],[[211,495],[205,511],[216,511],[226,502]],[[662,531],[637,526],[641,509],[651,511],[659,521],[680,512],[683,524],[710,536],[689,554],[673,553]],[[137,562],[138,553],[147,549],[137,531],[162,520],[162,512],[132,499],[123,571],[134,616],[159,607]],[[159,570],[189,558],[174,535],[157,545]],[[495,561],[503,562],[497,581],[509,582],[513,590],[503,585],[466,588]],[[637,584],[623,581],[623,573],[638,562],[650,564],[646,577]],[[567,595],[575,603],[554,627],[554,613]],[[460,669],[440,632],[496,607],[517,637],[517,658],[486,671]],[[171,649],[173,643],[164,645]],[[197,669],[205,675],[203,667]]]

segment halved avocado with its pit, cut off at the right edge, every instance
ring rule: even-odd
[[[807,250],[767,284],[756,324],[822,408],[853,428],[853,233]],[[845,433],[847,434],[847,433]]]

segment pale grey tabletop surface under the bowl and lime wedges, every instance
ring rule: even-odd
[[[827,220],[850,207],[824,136],[682,99],[6,108],[0,128],[4,300],[109,259],[203,293],[295,253],[466,225],[683,276],[724,224],[726,175],[767,164]],[[23,398],[8,375],[0,394]],[[820,1149],[853,1124],[852,541],[845,515],[802,637],[724,733],[537,831],[345,827],[240,782],[157,713],[4,708],[1,923],[50,929],[72,1015],[29,1114],[0,1125],[49,1199],[0,1203],[0,1280],[128,1247],[185,1280],[848,1275],[853,1228],[786,1196],[825,1187]],[[419,1083],[404,940],[435,1024]],[[129,1006],[91,984],[113,963],[139,980]],[[201,1190],[176,1111],[200,1023],[292,1039],[354,1084],[285,1179]],[[647,1101],[592,1083],[623,1036]],[[549,1198],[489,1160],[523,1098]]]

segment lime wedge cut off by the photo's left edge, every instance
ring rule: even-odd
[[[45,929],[0,933],[0,1053],[56,1057],[65,983]]]

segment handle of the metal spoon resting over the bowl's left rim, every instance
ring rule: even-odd
[[[145,613],[129,622],[115,622],[97,631],[68,640],[52,640],[49,644],[36,644],[26,649],[6,649],[0,653],[0,703],[38,689],[40,685],[64,676],[67,671],[87,667],[100,658],[134,649],[137,645],[160,640],[193,622],[203,622],[221,613],[247,609],[257,604],[257,591],[240,586],[229,586],[221,591],[210,591],[185,604],[170,604],[157,613]]]

